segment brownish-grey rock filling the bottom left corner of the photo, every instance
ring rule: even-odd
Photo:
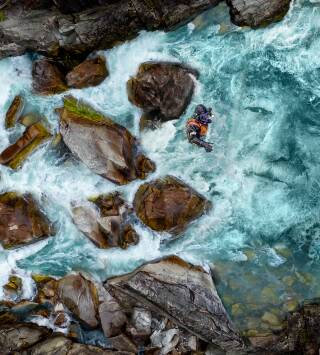
[[[0,349],[3,354],[22,351],[41,339],[48,337],[51,332],[33,324],[2,324],[0,325]]]

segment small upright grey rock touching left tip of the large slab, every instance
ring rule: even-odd
[[[99,316],[104,335],[107,338],[121,334],[128,321],[119,303],[110,294],[99,306]]]

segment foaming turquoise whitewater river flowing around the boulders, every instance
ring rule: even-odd
[[[73,201],[122,191],[132,201],[140,181],[117,187],[75,160],[61,160],[48,146],[19,171],[0,167],[1,191],[32,192],[56,224],[54,238],[16,251],[0,251],[0,285],[15,271],[32,297],[32,272],[62,276],[85,271],[97,279],[132,271],[143,262],[178,254],[216,268],[217,287],[242,330],[267,329],[267,310],[281,316],[297,301],[320,295],[320,2],[295,1],[286,18],[261,30],[231,25],[220,5],[175,32],[141,33],[105,51],[110,76],[98,87],[71,90],[137,135],[157,164],[150,178],[172,174],[213,202],[172,243],[136,225],[141,236],[128,250],[99,250],[72,224]],[[126,82],[140,63],[169,60],[200,72],[186,114],[153,132],[139,133],[141,112],[127,99]],[[0,61],[0,149],[22,132],[4,129],[16,94],[26,111],[46,116],[63,95],[31,90],[30,56]],[[213,107],[211,154],[188,144],[185,121],[194,106]],[[3,297],[0,288],[0,297]],[[276,326],[275,326],[276,327]]]

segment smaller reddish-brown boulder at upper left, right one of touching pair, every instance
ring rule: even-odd
[[[66,81],[69,87],[82,89],[101,84],[107,76],[106,60],[98,56],[77,65],[68,73]]]

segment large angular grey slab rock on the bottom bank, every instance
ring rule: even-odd
[[[106,288],[117,299],[131,298],[224,350],[240,351],[236,333],[210,274],[178,257],[167,257],[115,277]]]

